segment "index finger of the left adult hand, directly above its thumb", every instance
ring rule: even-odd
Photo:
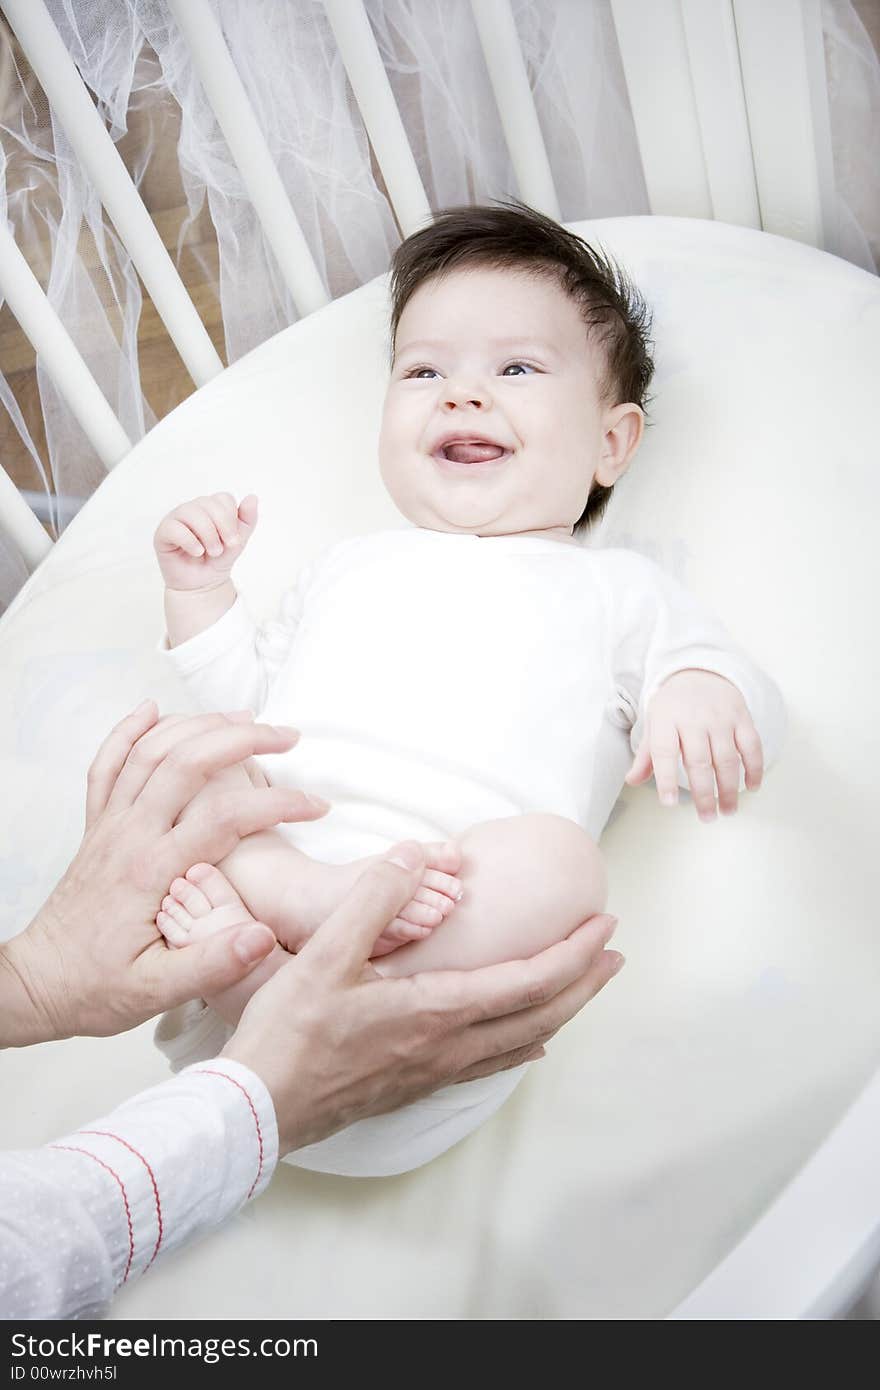
[[[279,823],[318,820],[329,806],[320,796],[288,787],[253,787],[247,791],[207,794],[192,815],[172,826],[150,849],[153,876],[170,884],[195,863],[218,863],[239,840]]]

